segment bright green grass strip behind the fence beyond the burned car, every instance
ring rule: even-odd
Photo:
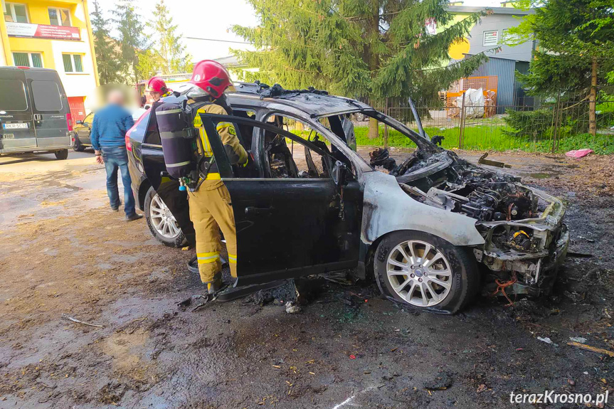
[[[526,137],[511,137],[502,132],[504,129],[509,130],[511,128],[486,125],[467,126],[462,137],[462,149],[494,151],[515,149],[526,152],[551,152],[552,141],[550,139],[533,140]],[[443,136],[445,139],[443,139],[442,147],[446,149],[458,148],[458,127],[426,127],[425,131],[430,137]],[[383,127],[379,128],[378,138],[369,139],[368,132],[368,127],[354,127],[356,144],[359,146],[383,146]],[[391,128],[388,128],[388,146],[415,148],[411,139]],[[614,135],[598,134],[594,138],[590,134],[564,135],[556,152],[562,153],[583,148],[593,149],[596,154],[614,154]]]

